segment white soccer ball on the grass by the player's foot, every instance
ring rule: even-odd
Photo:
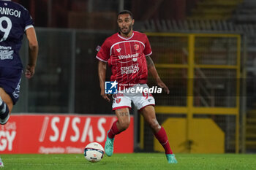
[[[104,149],[102,145],[97,142],[91,142],[84,148],[84,157],[90,162],[99,162],[104,155]]]

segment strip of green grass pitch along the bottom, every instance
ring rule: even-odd
[[[90,163],[83,154],[1,155],[3,170],[256,170],[256,154],[177,154],[176,158],[177,164],[168,164],[164,153],[114,154]]]

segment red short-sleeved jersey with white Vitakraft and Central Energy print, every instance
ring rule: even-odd
[[[116,80],[118,86],[127,88],[138,83],[145,84],[147,82],[146,57],[151,53],[146,34],[132,31],[132,36],[127,39],[118,33],[108,37],[96,58],[108,62],[112,71],[110,81]]]

